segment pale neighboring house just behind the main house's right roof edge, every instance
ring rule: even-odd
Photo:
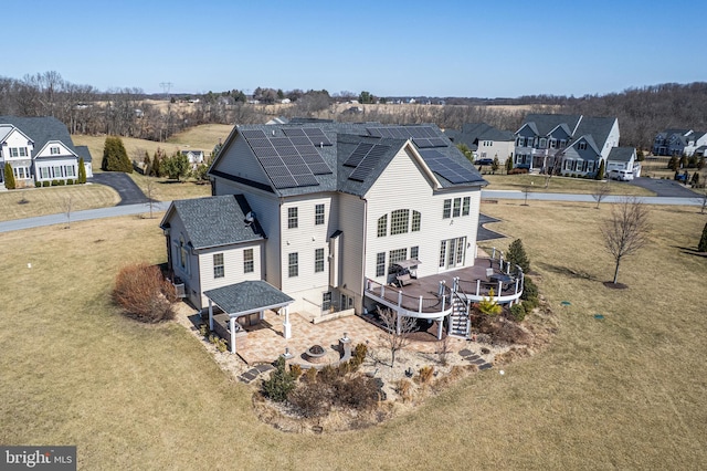
[[[494,159],[503,166],[513,158],[516,138],[509,130],[498,129],[486,123],[466,123],[462,130],[445,129],[444,134],[454,144],[465,144],[473,153],[474,159]]]

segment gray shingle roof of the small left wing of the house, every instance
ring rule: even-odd
[[[251,211],[243,195],[226,195],[173,201],[165,214],[161,228],[177,213],[184,224],[187,239],[194,249],[230,245],[265,238],[257,223],[249,224],[245,216]]]

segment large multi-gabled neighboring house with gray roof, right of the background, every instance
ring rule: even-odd
[[[514,167],[591,177],[619,145],[619,119],[528,114],[515,136]]]

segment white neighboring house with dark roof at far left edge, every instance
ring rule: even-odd
[[[66,126],[54,117],[0,116],[0,165],[10,164],[18,187],[44,181],[76,180],[84,158],[86,178],[93,176],[85,146],[75,147]],[[4,172],[0,172],[0,186]]]

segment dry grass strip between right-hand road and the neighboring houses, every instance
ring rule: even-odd
[[[591,195],[597,191],[595,180],[585,180],[581,178],[570,177],[552,177],[549,185],[545,187],[544,175],[484,175],[488,181],[489,190],[520,190],[530,185],[530,191],[546,193],[583,193]],[[634,187],[625,182],[609,181],[611,195],[630,195],[630,196],[655,196],[653,191],[644,188]]]

